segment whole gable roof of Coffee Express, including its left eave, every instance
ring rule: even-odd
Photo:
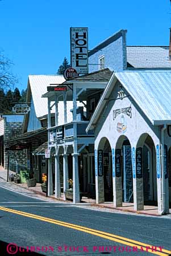
[[[116,80],[123,85],[152,124],[171,123],[171,71],[123,71],[112,75],[86,132],[97,123]]]

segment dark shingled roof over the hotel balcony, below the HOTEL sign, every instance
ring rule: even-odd
[[[112,71],[109,68],[103,68],[102,70],[98,70],[87,75],[78,76],[78,78],[73,78],[70,80],[80,82],[108,82],[111,78],[111,75]]]

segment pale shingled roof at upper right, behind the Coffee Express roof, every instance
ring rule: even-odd
[[[127,46],[127,62],[135,68],[171,68],[168,46]]]

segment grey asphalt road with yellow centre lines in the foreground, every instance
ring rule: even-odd
[[[1,185],[3,182],[0,184],[2,256],[165,256],[169,251],[171,254],[170,218],[101,212],[63,202],[40,201]],[[18,247],[10,248],[9,243]],[[146,249],[147,245],[154,246],[154,251],[152,247]]]

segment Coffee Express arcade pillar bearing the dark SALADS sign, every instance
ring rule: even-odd
[[[132,148],[134,210],[136,211],[144,210],[142,150],[143,148]]]

